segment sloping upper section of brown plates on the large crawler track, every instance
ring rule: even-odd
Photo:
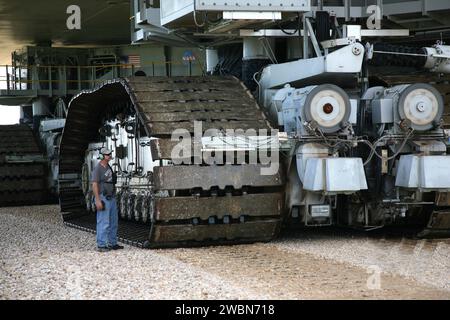
[[[203,131],[270,129],[251,94],[235,78],[128,81],[135,106],[152,136],[168,136],[177,129],[193,133],[194,121],[202,121]]]

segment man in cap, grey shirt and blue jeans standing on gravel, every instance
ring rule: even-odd
[[[97,208],[97,250],[106,252],[123,249],[123,246],[117,244],[119,217],[115,197],[116,175],[109,165],[112,151],[102,148],[99,159],[100,162],[92,171],[91,181]]]

